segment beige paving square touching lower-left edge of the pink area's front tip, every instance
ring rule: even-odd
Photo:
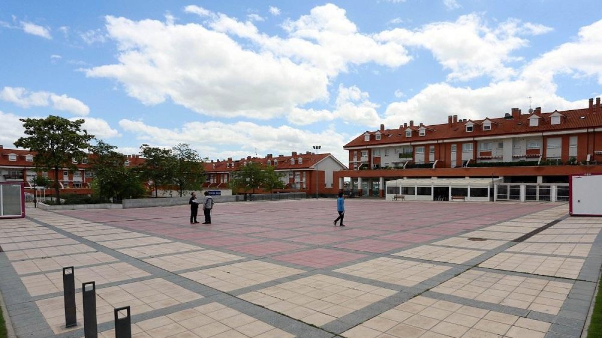
[[[303,272],[299,269],[259,260],[186,272],[182,277],[222,291],[232,291]]]

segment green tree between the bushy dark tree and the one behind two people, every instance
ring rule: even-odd
[[[144,180],[151,180],[155,189],[155,197],[158,197],[158,186],[174,183],[176,158],[173,156],[172,150],[151,147],[148,144],[140,146],[140,154],[144,158],[144,164],[140,166],[140,176]]]

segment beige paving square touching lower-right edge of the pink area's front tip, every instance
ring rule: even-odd
[[[450,266],[380,257],[335,271],[385,283],[414,286],[449,269]]]

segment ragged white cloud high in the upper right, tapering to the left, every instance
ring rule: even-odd
[[[456,22],[429,23],[415,31],[396,28],[378,34],[377,38],[429,49],[444,69],[452,71],[447,76],[450,81],[468,81],[480,76],[501,81],[517,75],[506,64],[520,60],[511,53],[529,44],[520,35],[539,34],[545,31],[544,27],[509,19],[491,28],[482,16],[473,13],[459,17]]]

